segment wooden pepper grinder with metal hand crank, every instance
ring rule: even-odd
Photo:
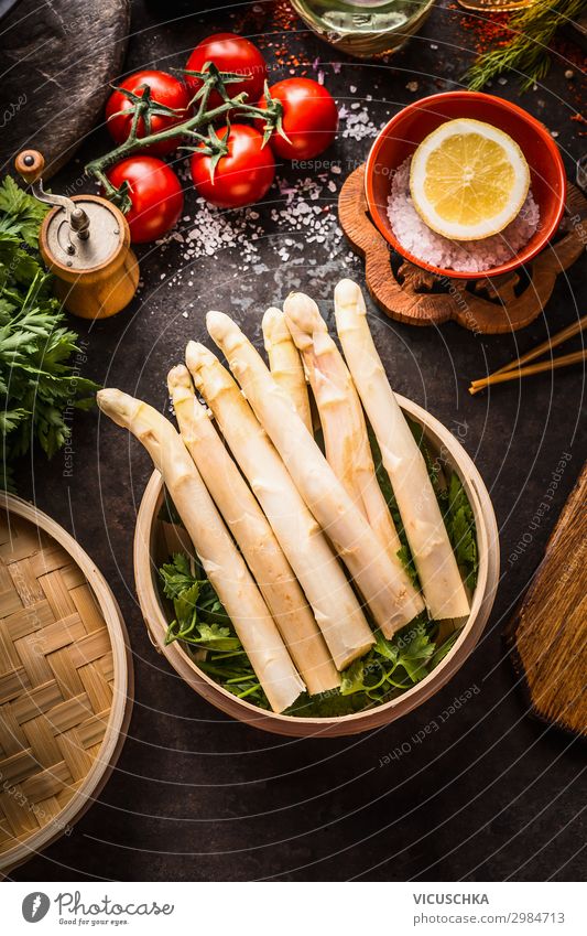
[[[41,180],[45,160],[23,150],[15,169],[34,196],[54,205],[39,235],[43,260],[55,273],[55,293],[81,319],[108,319],[129,304],[139,284],[124,215],[98,195],[50,195]]]

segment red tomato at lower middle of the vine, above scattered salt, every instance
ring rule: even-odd
[[[224,140],[228,127],[218,131]],[[270,147],[253,127],[232,123],[228,153],[211,168],[209,155],[192,157],[192,179],[199,195],[218,208],[239,208],[258,202],[269,190],[275,174],[275,160]]]

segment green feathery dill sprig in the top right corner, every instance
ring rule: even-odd
[[[469,89],[480,90],[502,72],[518,72],[522,92],[541,82],[551,67],[548,46],[556,30],[577,20],[586,7],[587,0],[534,0],[511,19],[512,41],[483,52],[469,68],[465,75]]]

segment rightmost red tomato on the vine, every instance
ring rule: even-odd
[[[312,159],[324,152],[336,137],[338,110],[333,96],[311,78],[285,78],[269,89],[283,107],[282,127],[290,142],[276,131],[271,136],[271,149],[282,159]],[[263,97],[259,107],[267,109]],[[263,121],[256,121],[262,130]]]

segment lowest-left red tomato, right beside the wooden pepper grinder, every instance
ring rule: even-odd
[[[130,157],[109,169],[108,180],[120,189],[129,183],[132,207],[127,214],[131,240],[156,240],[180,219],[184,193],[173,169],[153,157]]]

